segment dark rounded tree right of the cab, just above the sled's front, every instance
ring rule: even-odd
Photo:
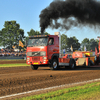
[[[67,39],[67,47],[70,49],[71,46],[73,48],[73,51],[78,50],[80,48],[79,40],[73,36]]]

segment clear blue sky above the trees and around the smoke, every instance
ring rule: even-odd
[[[15,20],[20,28],[24,30],[24,35],[31,29],[40,31],[39,15],[43,9],[49,6],[53,0],[0,0],[0,30],[4,28],[5,21]],[[54,35],[54,32],[66,34],[68,37],[75,36],[81,43],[84,38],[97,39],[100,30],[93,27],[73,27],[68,31],[47,28],[46,32]]]

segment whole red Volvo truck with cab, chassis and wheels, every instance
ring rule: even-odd
[[[33,70],[42,66],[49,66],[52,70],[58,69],[60,66],[70,66],[71,69],[75,68],[75,60],[68,57],[68,55],[63,56],[61,54],[60,34],[56,34],[29,37],[26,62],[31,65]]]

